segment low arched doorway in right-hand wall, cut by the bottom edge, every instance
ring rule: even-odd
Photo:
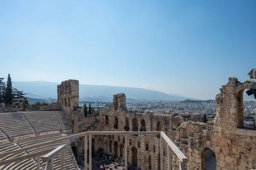
[[[202,170],[216,170],[217,160],[215,153],[208,147],[201,150]]]

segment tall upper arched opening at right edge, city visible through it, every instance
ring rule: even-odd
[[[240,90],[236,95],[236,112],[237,112],[237,127],[246,127],[251,130],[256,130],[256,122],[252,113],[252,109],[248,106],[251,102],[256,101],[254,95],[247,95],[247,91],[250,89]],[[234,106],[232,106],[234,107]]]

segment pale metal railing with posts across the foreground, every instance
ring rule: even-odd
[[[45,145],[49,145],[49,144],[55,144],[61,141],[65,141],[71,138],[77,138],[77,137],[84,137],[84,169],[87,170],[87,150],[89,150],[89,170],[92,169],[92,135],[125,135],[125,170],[128,169],[128,152],[127,152],[127,148],[128,148],[128,135],[141,135],[141,138],[144,138],[145,135],[151,135],[151,151],[152,151],[152,146],[157,146],[155,152],[151,152],[151,154],[153,154],[153,159],[151,159],[151,169],[152,170],[158,170],[158,146],[160,146],[160,170],[172,170],[172,151],[177,155],[177,158],[179,158],[180,161],[180,170],[185,170],[185,162],[188,160],[186,158],[186,156],[179,150],[179,148],[171,141],[171,139],[169,139],[169,137],[164,133],[164,132],[155,132],[155,131],[146,131],[146,132],[134,132],[134,131],[116,131],[116,132],[84,132],[84,133],[79,133],[76,135],[70,135],[64,138],[59,138],[59,139],[55,139],[52,141],[47,141],[47,142],[42,142],[39,144],[33,144],[29,147],[24,147],[21,149],[17,149],[17,150],[13,150],[10,152],[5,152],[5,153],[1,153],[0,157],[2,156],[6,156],[9,154],[14,154],[14,153],[20,153],[26,150],[30,150],[33,148],[38,148],[38,152],[37,153],[32,153],[32,154],[28,154],[25,156],[20,156],[17,158],[12,158],[12,159],[8,159],[5,161],[0,161],[0,166],[4,165],[4,164],[10,164],[12,162],[17,162],[18,160],[21,160],[20,158],[22,158],[22,160],[28,159],[28,158],[32,158],[32,157],[38,157],[38,160],[40,160],[40,156],[43,153],[47,153],[47,151],[49,152],[49,150],[44,150],[44,151],[40,151],[40,147],[43,147]],[[159,138],[154,138],[154,135],[160,135],[160,139]],[[87,141],[88,141],[88,145],[87,145]],[[144,141],[144,139],[142,140]],[[159,145],[158,145],[159,144]],[[143,144],[144,146],[144,144]],[[164,150],[165,153],[164,153]],[[142,152],[145,152],[145,150],[143,150]],[[40,154],[41,153],[41,154]],[[30,156],[30,157],[29,157]],[[143,154],[142,154],[143,156]],[[25,158],[26,157],[26,158]],[[61,157],[63,159],[63,157]],[[44,160],[47,160],[46,158],[44,158]],[[6,163],[8,162],[8,163]],[[47,161],[48,162],[48,161]],[[143,157],[143,160],[141,160],[141,169],[145,170],[144,167],[144,162],[145,162],[145,158]],[[155,164],[154,164],[155,163]],[[165,167],[163,167],[163,165],[165,164]],[[50,165],[48,165],[50,166]],[[51,163],[52,166],[52,163]],[[47,166],[46,166],[47,167]],[[39,170],[40,168],[40,161],[37,161],[37,169]]]

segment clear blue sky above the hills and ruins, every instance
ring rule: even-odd
[[[256,68],[255,0],[0,1],[0,77],[214,99]]]

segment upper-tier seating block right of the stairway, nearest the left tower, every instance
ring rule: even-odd
[[[37,134],[60,131],[54,112],[23,112]]]

